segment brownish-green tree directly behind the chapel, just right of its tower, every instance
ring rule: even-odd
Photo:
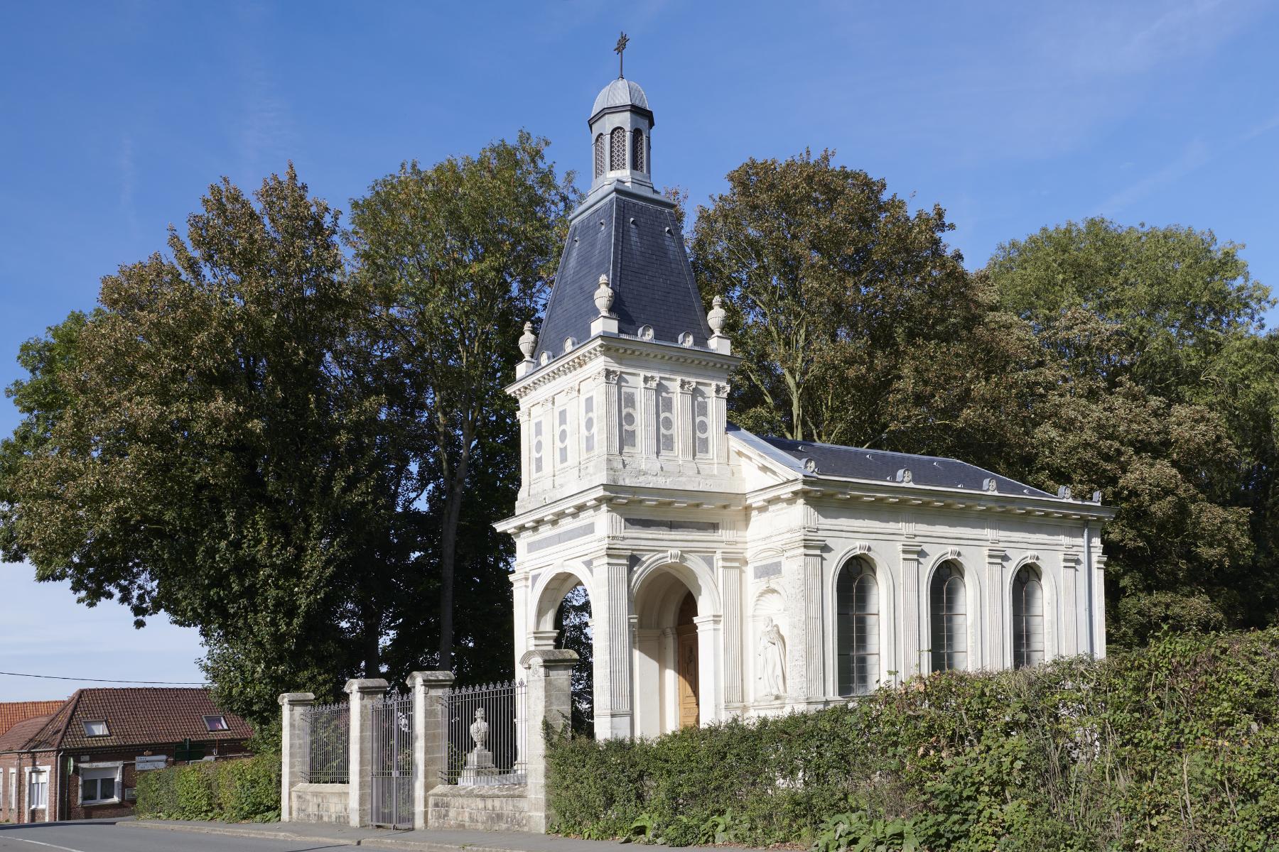
[[[889,400],[921,347],[948,350],[985,310],[943,239],[945,212],[911,213],[883,180],[833,157],[804,151],[729,172],[729,190],[698,208],[693,264],[706,298],[728,303],[743,425],[886,446],[898,425]]]

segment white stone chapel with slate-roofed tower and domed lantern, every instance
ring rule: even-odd
[[[654,114],[618,78],[519,400],[515,660],[591,602],[597,737],[820,708],[921,672],[1105,654],[1113,512],[953,459],[751,434],[703,309]],[[849,404],[854,404],[849,400]]]

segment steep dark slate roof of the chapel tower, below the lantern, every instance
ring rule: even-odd
[[[677,344],[687,331],[694,346],[707,346],[711,331],[674,208],[613,189],[574,213],[537,340],[538,361],[542,351],[553,360],[563,355],[568,337],[578,345],[591,337],[601,275],[615,294],[620,333],[652,326],[655,340]]]

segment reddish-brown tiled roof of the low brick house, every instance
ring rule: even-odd
[[[224,717],[229,729],[208,731],[206,715]],[[86,736],[83,723],[97,720],[106,722],[107,736]],[[22,745],[8,750],[146,746],[187,738],[216,742],[246,740],[252,733],[247,722],[219,710],[202,687],[91,688],[77,690],[55,714],[31,728]],[[13,746],[13,740],[4,737],[6,746]]]

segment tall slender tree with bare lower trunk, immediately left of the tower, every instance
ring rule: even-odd
[[[521,327],[545,300],[577,201],[572,174],[556,178],[546,146],[521,133],[476,157],[431,169],[405,164],[352,204],[350,244],[380,305],[388,369],[421,414],[411,452],[439,530],[444,668],[457,646],[459,565],[492,577],[505,572],[510,553],[490,526],[513,510],[518,480],[515,406],[503,386],[519,358]],[[485,470],[477,470],[481,460]],[[487,595],[500,584],[468,589],[476,599],[463,600],[478,600],[490,616]],[[491,621],[476,626],[491,637]]]

